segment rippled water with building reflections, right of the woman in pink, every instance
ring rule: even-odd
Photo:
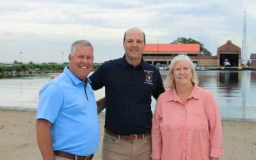
[[[256,72],[198,72],[200,87],[210,90],[219,106],[221,118],[256,121]]]

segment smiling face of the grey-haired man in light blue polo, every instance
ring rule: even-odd
[[[68,60],[70,62],[69,70],[84,82],[86,76],[90,74],[93,68],[94,57],[92,47],[76,45],[76,52],[74,52],[73,56],[69,54]]]

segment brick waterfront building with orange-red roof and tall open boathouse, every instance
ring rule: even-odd
[[[173,58],[186,53],[193,63],[205,66],[223,66],[228,59],[230,67],[237,67],[241,63],[241,48],[228,40],[217,49],[217,56],[200,56],[200,44],[146,44],[143,59],[152,65],[156,63],[169,65]]]

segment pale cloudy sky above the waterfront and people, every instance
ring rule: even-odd
[[[70,45],[89,40],[95,62],[124,55],[129,28],[146,34],[147,44],[170,44],[178,37],[202,42],[212,55],[227,40],[242,47],[246,10],[248,58],[256,53],[255,0],[0,0],[0,62],[68,61]],[[61,52],[64,52],[62,55]]]

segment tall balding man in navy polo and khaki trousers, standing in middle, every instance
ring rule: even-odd
[[[151,97],[164,92],[159,70],[143,60],[145,34],[131,28],[124,35],[124,57],[106,61],[90,76],[93,90],[105,86],[98,113],[105,107],[102,160],[151,159]],[[99,105],[100,104],[100,105]]]

